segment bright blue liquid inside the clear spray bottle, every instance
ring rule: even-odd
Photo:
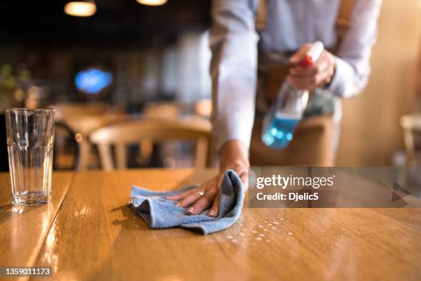
[[[283,149],[288,146],[294,136],[294,131],[300,118],[285,118],[286,116],[275,116],[271,124],[262,136],[262,141],[268,147]]]

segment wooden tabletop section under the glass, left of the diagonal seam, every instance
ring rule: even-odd
[[[71,172],[54,174],[50,204],[17,208],[12,207],[9,174],[0,173],[0,267],[34,264],[72,176]]]

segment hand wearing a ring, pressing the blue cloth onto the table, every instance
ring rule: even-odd
[[[169,196],[169,200],[177,200],[177,206],[188,208],[188,215],[197,215],[209,209],[208,216],[217,217],[219,211],[219,198],[222,180],[228,169],[233,169],[241,179],[244,189],[248,189],[248,150],[239,141],[228,141],[221,149],[221,160],[219,174],[203,183],[197,189],[192,189]]]

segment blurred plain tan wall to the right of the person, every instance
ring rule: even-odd
[[[337,165],[391,165],[403,149],[399,118],[417,104],[420,3],[383,0],[369,84],[343,102]]]

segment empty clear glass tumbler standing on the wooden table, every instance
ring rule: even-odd
[[[54,110],[6,110],[12,203],[50,200],[54,146]]]

